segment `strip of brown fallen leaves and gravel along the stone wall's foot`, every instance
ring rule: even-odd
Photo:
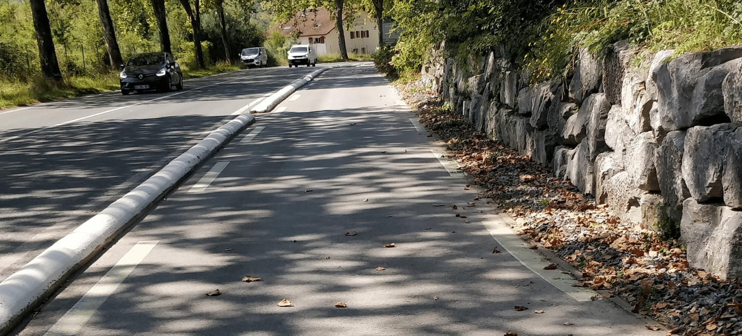
[[[449,151],[444,157],[456,159],[483,190],[477,200],[487,200],[495,214],[512,217],[513,230],[533,248],[549,248],[579,269],[582,278],[576,286],[626,300],[672,335],[742,335],[738,280],[690,268],[677,241],[621,223],[608,213],[608,205],[598,205],[571,182],[556,179],[551,168],[477,132],[461,113],[442,108],[433,93],[408,90],[421,88],[416,83],[407,85],[398,90],[419,122],[443,139]]]

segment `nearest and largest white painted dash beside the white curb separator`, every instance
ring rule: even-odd
[[[142,241],[132,247],[44,336],[76,335],[158,242],[159,240]]]

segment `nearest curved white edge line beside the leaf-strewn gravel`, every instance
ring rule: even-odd
[[[544,256],[528,248],[528,245],[520,237],[513,234],[513,230],[505,223],[510,220],[506,217],[507,215],[493,214],[492,216],[494,218],[482,220],[482,225],[485,225],[485,228],[487,228],[487,231],[490,232],[490,235],[496,242],[510,252],[523,266],[533,271],[533,273],[539,274],[539,277],[542,277],[542,279],[551,283],[551,285],[557,287],[560,291],[564,291],[574,298],[574,300],[587,302],[592,300],[591,297],[597,295],[591,289],[575,287],[574,285],[577,284],[577,280],[562,274],[562,269],[543,269]]]

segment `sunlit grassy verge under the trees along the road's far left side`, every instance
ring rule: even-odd
[[[183,78],[199,78],[239,70],[240,65],[212,65],[207,69],[183,69]],[[119,89],[118,71],[95,76],[72,76],[56,83],[42,76],[27,81],[0,79],[0,109],[84,96]]]

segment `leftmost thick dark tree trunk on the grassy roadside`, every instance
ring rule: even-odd
[[[33,17],[33,28],[36,30],[36,43],[39,45],[39,61],[42,73],[55,81],[62,81],[62,71],[59,70],[59,62],[56,60],[54,41],[51,37],[49,27],[49,16],[46,13],[44,0],[30,0],[31,16]]]

